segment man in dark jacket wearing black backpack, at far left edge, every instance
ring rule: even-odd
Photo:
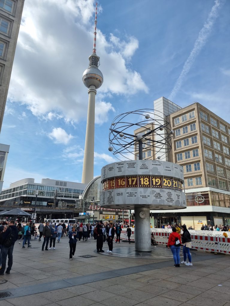
[[[10,274],[10,270],[12,268],[13,265],[13,247],[14,247],[14,243],[17,240],[17,227],[14,225],[14,221],[11,220],[9,223],[9,227],[8,229],[6,229],[6,231],[4,233],[2,233],[3,237],[2,237],[2,269],[0,270],[0,275],[4,275],[4,271],[6,269],[6,258],[8,255],[8,267],[6,269],[6,274]],[[6,243],[6,241],[8,240],[9,236],[13,235],[11,237],[11,245],[10,246],[6,246],[4,245]]]

